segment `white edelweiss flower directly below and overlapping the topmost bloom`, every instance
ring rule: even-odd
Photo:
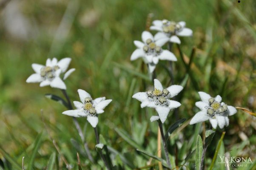
[[[134,41],[134,45],[137,46],[137,49],[131,54],[131,60],[143,57],[151,73],[156,68],[159,59],[177,61],[172,52],[162,49],[162,45],[168,42],[168,37],[155,41],[153,35],[148,31],[143,31],[141,37],[143,42]]]

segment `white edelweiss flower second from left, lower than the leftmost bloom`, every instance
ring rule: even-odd
[[[78,94],[81,102],[74,101],[76,110],[64,111],[62,114],[74,117],[86,117],[92,127],[98,124],[98,114],[103,113],[103,109],[112,101],[111,99],[105,100],[105,97],[99,97],[92,100],[91,95],[86,91],[78,89]]]

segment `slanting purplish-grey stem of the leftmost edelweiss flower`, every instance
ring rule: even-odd
[[[72,104],[71,104],[71,101],[70,101],[70,99],[69,99],[69,97],[68,97],[67,92],[66,92],[65,90],[63,90],[63,89],[62,89],[61,91],[63,92],[65,98],[66,98],[67,101],[68,101],[68,109],[73,110],[73,106],[72,106]],[[77,128],[77,131],[78,131],[78,133],[79,133],[79,136],[80,136],[80,138],[82,139],[82,143],[83,143],[83,145],[84,145],[84,147],[85,147],[85,152],[87,153],[87,156],[88,156],[88,158],[90,159],[90,161],[91,161],[91,162],[94,162],[94,159],[92,158],[91,153],[90,153],[90,151],[89,151],[88,144],[85,142],[85,137],[84,137],[84,135],[83,135],[83,133],[82,133],[82,129],[81,129],[79,123],[77,122],[77,118],[75,118],[75,117],[72,117],[72,118],[73,118],[73,122],[74,122],[74,124],[75,124],[75,126],[76,126],[76,128]]]

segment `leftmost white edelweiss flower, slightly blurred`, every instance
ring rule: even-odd
[[[50,85],[53,88],[66,89],[65,83],[60,79],[60,74],[68,69],[70,62],[71,58],[63,58],[59,62],[56,58],[53,58],[52,60],[46,60],[46,66],[32,64],[32,68],[36,73],[28,77],[26,82],[41,82],[40,87]],[[75,71],[74,68],[68,70],[63,79],[66,79],[73,71]]]

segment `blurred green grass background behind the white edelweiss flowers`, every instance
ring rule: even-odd
[[[190,73],[186,72],[178,48],[173,52],[178,61],[174,63],[175,84],[188,80],[182,96],[182,106],[176,118],[173,111],[168,115],[165,129],[175,119],[187,118],[199,111],[197,91],[212,96],[222,95],[228,105],[256,111],[256,1],[241,0],[2,0],[0,1],[0,146],[21,164],[25,156],[28,164],[33,142],[43,132],[42,142],[35,157],[34,169],[46,167],[54,151],[41,119],[44,110],[46,123],[70,164],[76,165],[80,153],[82,167],[100,169],[88,161],[71,144],[70,139],[81,143],[71,117],[61,114],[66,109],[44,94],[62,96],[59,89],[40,88],[39,84],[27,84],[26,79],[34,72],[32,63],[45,64],[47,58],[71,57],[69,68],[76,71],[65,81],[71,101],[79,100],[77,89],[88,91],[93,98],[106,96],[113,102],[99,116],[98,128],[106,143],[125,155],[134,167],[143,167],[148,160],[126,142],[115,128],[125,130],[137,144],[156,155],[157,123],[149,118],[153,109],[141,109],[139,102],[131,99],[138,91],[152,88],[147,68],[141,59],[130,61],[136,49],[134,40],[141,40],[148,21],[168,19],[185,21],[193,30],[193,37],[181,38],[181,48],[188,62],[192,47],[196,47]],[[152,31],[153,34],[156,32]],[[166,47],[164,47],[166,48]],[[187,57],[188,56],[188,57]],[[156,77],[164,86],[170,77],[161,61],[156,67]],[[139,74],[136,74],[139,73]],[[192,75],[189,76],[189,75]],[[188,79],[187,79],[188,78]],[[191,81],[192,80],[192,81]],[[85,118],[78,119],[84,129],[85,140],[94,156],[95,136]],[[209,122],[188,125],[171,139],[171,152],[176,165],[191,152],[197,134],[209,127]],[[206,154],[209,166],[216,144],[223,130],[218,129]],[[256,119],[248,113],[238,111],[230,117],[225,127],[222,152],[234,156],[256,158]],[[191,142],[192,141],[192,142]],[[185,153],[175,156],[184,144]],[[175,149],[174,149],[175,148]],[[185,156],[184,156],[185,155]],[[4,154],[0,158],[4,160]],[[111,155],[112,163],[132,168],[121,156]],[[162,154],[162,157],[164,155]],[[151,160],[152,161],[152,160]],[[152,161],[157,162],[157,161]],[[193,169],[193,156],[189,159]],[[8,163],[6,163],[8,164]],[[60,167],[65,169],[63,163]],[[27,166],[27,165],[26,165]],[[219,167],[218,167],[219,166]],[[222,165],[216,164],[216,168]],[[158,169],[158,166],[155,167]],[[15,168],[14,168],[15,169]],[[224,167],[225,169],[225,167]]]

